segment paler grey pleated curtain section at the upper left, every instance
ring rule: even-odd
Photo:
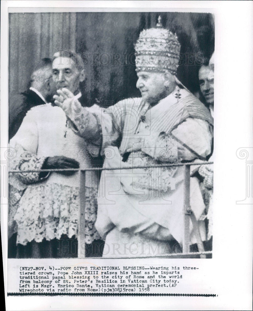
[[[9,14],[9,94],[25,91],[36,63],[75,49],[75,13]]]

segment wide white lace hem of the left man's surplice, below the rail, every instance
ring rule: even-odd
[[[93,188],[86,187],[85,243],[92,243],[100,236],[94,223],[97,202]],[[78,233],[79,188],[56,183],[28,186],[22,196],[14,220],[17,222],[17,243],[26,245],[33,239],[69,238]]]

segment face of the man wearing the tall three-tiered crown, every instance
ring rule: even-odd
[[[136,87],[141,91],[143,100],[152,104],[165,97],[164,73],[141,71],[137,77]]]

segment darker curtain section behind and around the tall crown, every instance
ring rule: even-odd
[[[82,85],[87,105],[111,105],[121,98],[140,96],[136,89],[134,43],[141,30],[162,24],[176,32],[181,44],[178,78],[192,92],[198,91],[198,68],[214,51],[211,14],[77,13],[76,49],[86,62],[87,79]]]

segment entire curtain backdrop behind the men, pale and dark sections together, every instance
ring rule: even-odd
[[[26,90],[40,58],[76,49],[85,62],[81,91],[87,106],[111,105],[140,96],[136,89],[134,43],[141,30],[162,24],[181,44],[178,78],[198,91],[198,68],[214,50],[211,14],[177,12],[78,12],[9,14],[9,94]],[[10,95],[11,96],[11,95]]]

